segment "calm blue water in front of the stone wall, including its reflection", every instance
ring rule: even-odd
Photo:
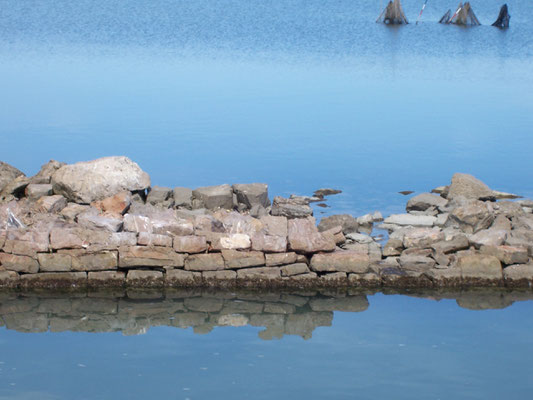
[[[425,296],[4,297],[0,399],[528,398],[531,292]]]

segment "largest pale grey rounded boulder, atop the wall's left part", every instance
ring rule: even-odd
[[[150,187],[150,177],[127,157],[104,157],[65,165],[52,175],[54,193],[89,204],[110,195]]]

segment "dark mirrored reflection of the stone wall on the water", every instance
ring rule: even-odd
[[[388,291],[386,294],[400,294]],[[128,291],[0,294],[0,327],[19,332],[122,332],[143,334],[151,327],[192,327],[209,333],[217,326],[264,327],[265,340],[312,336],[315,328],[331,326],[334,311],[365,311],[371,292],[199,292]],[[440,300],[456,299],[461,307],[500,309],[531,300],[531,291],[470,290],[403,293]]]

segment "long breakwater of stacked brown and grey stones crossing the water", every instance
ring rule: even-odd
[[[383,219],[316,224],[266,184],[151,187],[126,157],[0,164],[0,286],[531,288],[533,201],[466,174]],[[374,230],[388,232],[381,244]]]

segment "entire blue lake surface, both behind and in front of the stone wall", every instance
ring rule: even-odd
[[[508,2],[508,30],[490,26],[496,0],[472,2],[475,28],[438,24],[457,5],[442,0],[418,25],[376,24],[384,3],[0,0],[0,159],[31,175],[51,158],[126,155],[162,186],[342,189],[318,217],[401,212],[398,191],[428,191],[454,172],[533,197],[533,3]],[[403,1],[411,22],[422,3]],[[264,312],[279,303],[270,293],[250,300],[266,333],[227,294],[211,297],[233,302],[229,314],[185,312],[192,300],[167,294],[4,295],[0,399],[533,389],[529,294],[360,294],[352,304],[322,293],[325,311],[299,294],[290,317]]]

